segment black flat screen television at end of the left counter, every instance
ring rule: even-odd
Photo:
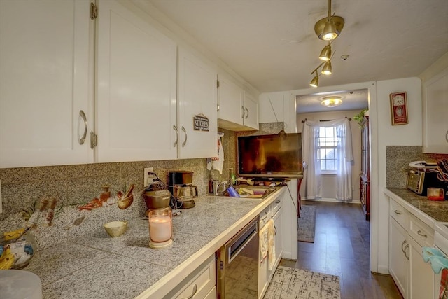
[[[238,137],[239,176],[301,177],[302,134]]]

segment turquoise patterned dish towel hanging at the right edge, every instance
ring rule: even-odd
[[[421,253],[423,260],[430,263],[435,274],[442,272],[439,299],[448,299],[448,258],[443,256],[442,251],[431,247],[422,247]]]

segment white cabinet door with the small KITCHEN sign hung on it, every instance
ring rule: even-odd
[[[179,49],[179,158],[216,156],[216,71]],[[209,130],[195,130],[193,118],[207,117]]]

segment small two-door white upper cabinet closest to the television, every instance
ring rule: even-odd
[[[243,88],[230,76],[221,74],[218,81],[218,126],[232,131],[258,130],[258,101],[251,95],[245,97]]]

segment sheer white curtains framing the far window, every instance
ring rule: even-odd
[[[336,198],[340,201],[353,200],[351,165],[353,163],[353,146],[351,127],[347,118],[318,122],[305,120],[303,135],[303,159],[305,174],[305,196],[307,199],[322,197],[321,166],[318,164],[317,148],[320,127],[335,127],[337,143],[337,179]]]

